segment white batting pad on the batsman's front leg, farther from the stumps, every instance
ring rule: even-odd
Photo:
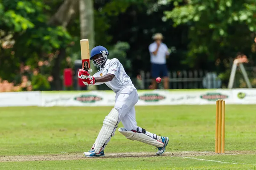
[[[99,132],[95,143],[93,144],[93,148],[96,153],[99,153],[105,142],[107,142],[108,139],[111,138],[111,136],[114,136],[118,118],[119,113],[115,108],[113,108],[108,116],[105,117],[103,121],[103,126]]]

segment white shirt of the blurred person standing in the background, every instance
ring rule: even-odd
[[[160,44],[157,55],[154,55],[153,52],[157,50],[157,43],[153,42],[148,46],[150,52],[150,62],[154,64],[166,64],[166,55],[169,55],[167,45],[163,42]]]

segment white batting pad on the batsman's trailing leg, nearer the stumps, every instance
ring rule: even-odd
[[[145,144],[150,144],[156,147],[163,147],[163,142],[159,142],[156,139],[152,139],[150,136],[144,133],[129,131],[129,130],[126,130],[124,127],[120,127],[118,131],[122,133],[127,139],[130,139],[132,141],[137,140]]]

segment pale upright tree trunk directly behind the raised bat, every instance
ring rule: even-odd
[[[93,0],[79,0],[80,34],[81,39],[89,40],[90,50],[94,47],[94,14]],[[96,68],[91,64],[93,73]],[[96,86],[88,86],[88,90],[96,90]]]

